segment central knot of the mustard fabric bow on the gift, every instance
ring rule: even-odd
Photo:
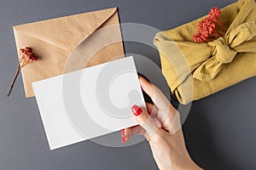
[[[215,56],[216,59],[224,64],[230,63],[236,56],[237,52],[234,49],[231,49],[227,40],[224,37],[219,37],[213,42],[208,42],[212,48],[212,56]]]

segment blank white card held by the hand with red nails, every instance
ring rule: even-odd
[[[133,57],[32,83],[50,150],[137,125],[145,108]]]

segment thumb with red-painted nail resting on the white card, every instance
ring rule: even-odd
[[[159,126],[154,122],[151,116],[148,115],[148,112],[137,105],[133,105],[131,111],[135,116],[135,120],[145,129],[145,137],[148,139],[148,137],[153,136],[159,129]]]

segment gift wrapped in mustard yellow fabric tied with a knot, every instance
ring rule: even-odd
[[[154,38],[162,72],[182,104],[204,98],[256,75],[256,5],[240,0],[221,9],[228,30],[212,42],[194,42],[194,20]]]

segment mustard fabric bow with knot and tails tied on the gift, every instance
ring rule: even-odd
[[[201,82],[210,82],[238,53],[256,52],[255,45],[250,42],[253,37],[256,37],[256,23],[250,21],[227,32],[224,37],[208,42],[212,46],[212,56],[195,69],[193,77]]]

